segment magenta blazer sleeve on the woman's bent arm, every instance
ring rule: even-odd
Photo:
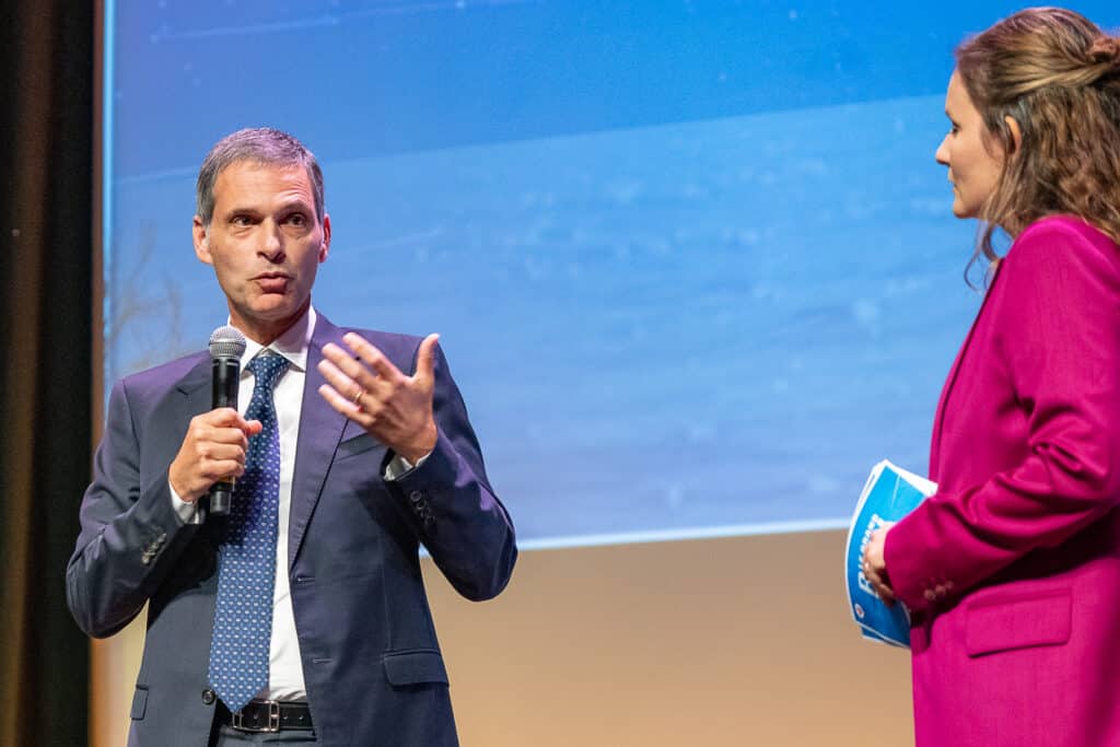
[[[1116,253],[1111,242],[1046,222],[1004,260],[1010,306],[1001,360],[990,364],[1009,372],[1026,456],[983,483],[936,493],[890,529],[887,575],[911,609],[930,607],[935,586],[956,596],[1033,550],[1062,544],[1120,499]]]

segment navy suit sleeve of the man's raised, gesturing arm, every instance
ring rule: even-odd
[[[435,370],[436,448],[423,464],[388,485],[447,580],[479,601],[497,596],[513,573],[513,522],[486,477],[478,439],[438,345]]]

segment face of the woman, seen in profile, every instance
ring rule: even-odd
[[[980,217],[984,202],[999,181],[1004,156],[993,139],[986,141],[983,119],[955,72],[949,78],[945,115],[951,127],[937,148],[936,159],[949,167],[949,180],[953,185],[953,215],[959,218]]]

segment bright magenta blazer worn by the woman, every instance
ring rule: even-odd
[[[887,534],[918,747],[1120,745],[1120,246],[1068,217],[1000,261]]]

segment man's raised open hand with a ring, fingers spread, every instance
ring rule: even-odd
[[[438,436],[431,399],[439,335],[428,335],[420,343],[412,376],[401,373],[361,335],[347,333],[343,340],[357,360],[337,345],[324,345],[319,372],[328,383],[319,387],[319,394],[370,436],[417,464],[436,448]]]

